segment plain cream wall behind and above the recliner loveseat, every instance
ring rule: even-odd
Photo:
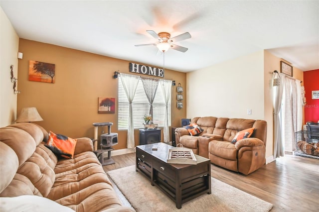
[[[187,118],[264,119],[264,51],[189,72],[186,82]]]

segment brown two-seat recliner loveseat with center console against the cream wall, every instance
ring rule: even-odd
[[[267,122],[243,118],[194,117],[203,131],[190,135],[184,127],[175,129],[176,144],[181,143],[211,163],[248,175],[265,163]],[[254,127],[250,138],[231,143],[238,131]]]

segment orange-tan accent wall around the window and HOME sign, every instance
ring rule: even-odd
[[[113,75],[115,71],[132,74],[129,63],[139,62],[25,39],[19,39],[19,52],[23,53],[23,59],[18,61],[18,89],[21,91],[17,95],[18,115],[23,107],[34,106],[44,119],[37,124],[72,138],[93,138],[92,123],[113,122],[112,132],[119,133],[119,143],[114,148],[126,148],[127,131],[118,130],[118,79],[113,79]],[[29,60],[55,64],[55,83],[29,81]],[[164,79],[175,80],[176,85],[180,83],[186,88],[186,73],[165,69]],[[179,126],[181,118],[186,117],[186,108],[178,110],[176,107],[176,94],[175,86],[171,93],[172,126]],[[183,96],[186,106],[186,91]],[[99,97],[116,98],[114,114],[98,113]],[[107,126],[99,127],[98,135],[102,130],[107,133]],[[139,145],[138,129],[135,130],[135,144]]]

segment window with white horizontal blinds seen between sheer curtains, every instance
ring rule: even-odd
[[[128,129],[129,102],[126,97],[120,75],[119,75],[118,82],[119,82],[118,128],[119,130],[126,130]],[[168,126],[170,126],[170,111],[171,111],[170,102],[171,102],[171,97],[169,97],[169,102],[168,102]],[[135,129],[143,128],[144,115],[150,113],[150,103],[146,97],[143,83],[141,80],[139,81],[139,85],[136,89],[132,106],[133,106],[134,128]],[[164,118],[165,118],[165,101],[163,98],[161,86],[159,84],[158,90],[156,92],[155,100],[153,103],[153,121],[154,123],[159,124],[159,127],[163,127]]]

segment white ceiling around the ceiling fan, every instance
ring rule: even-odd
[[[319,69],[319,0],[0,0],[20,38],[162,67],[146,30],[171,37],[165,68],[188,72],[263,49],[302,71]]]

